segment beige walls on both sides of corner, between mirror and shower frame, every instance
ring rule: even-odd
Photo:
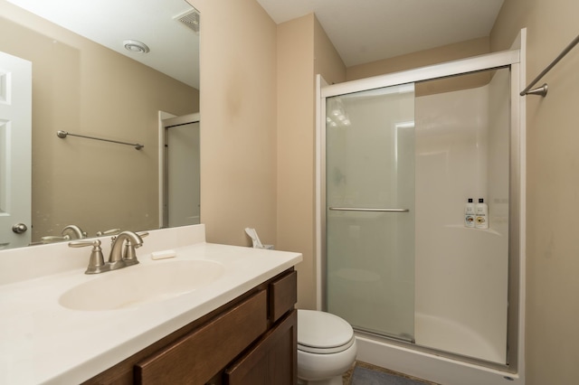
[[[313,14],[277,26],[254,0],[189,2],[203,20],[207,240],[249,246],[249,226],[263,243],[301,252],[299,306],[314,307],[315,65],[333,81],[346,69]]]

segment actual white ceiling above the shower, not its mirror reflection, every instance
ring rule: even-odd
[[[504,0],[257,0],[275,23],[315,13],[346,67],[489,36]]]

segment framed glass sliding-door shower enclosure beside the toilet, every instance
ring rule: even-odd
[[[320,90],[321,302],[360,338],[517,371],[517,63]],[[487,229],[466,226],[469,198]]]

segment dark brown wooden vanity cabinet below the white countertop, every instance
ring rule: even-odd
[[[289,269],[86,384],[295,384],[297,274]]]

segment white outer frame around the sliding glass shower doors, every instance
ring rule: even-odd
[[[381,89],[405,83],[415,83],[422,80],[435,80],[463,75],[483,70],[500,68],[510,69],[510,144],[509,144],[509,224],[508,224],[508,335],[507,335],[507,363],[505,365],[493,362],[482,362],[476,358],[447,354],[430,348],[422,348],[413,343],[404,343],[387,339],[390,343],[412,346],[413,349],[425,352],[435,352],[449,358],[459,359],[463,362],[471,362],[486,366],[499,371],[516,373],[519,370],[519,357],[523,354],[524,317],[522,295],[524,293],[524,277],[520,274],[523,266],[523,249],[521,239],[522,227],[524,226],[524,174],[521,173],[522,156],[524,156],[524,142],[521,131],[520,115],[524,110],[524,101],[518,96],[520,84],[524,83],[520,77],[520,51],[509,50],[475,56],[458,61],[449,61],[432,66],[413,70],[404,70],[375,76],[362,80],[352,80],[344,83],[327,85],[327,82],[318,75],[317,79],[317,307],[318,310],[326,310],[324,300],[326,287],[326,99],[359,92],[369,89]]]

